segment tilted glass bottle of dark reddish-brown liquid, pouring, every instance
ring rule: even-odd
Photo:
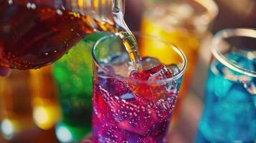
[[[0,65],[37,69],[96,31],[128,31],[124,0],[0,0]]]

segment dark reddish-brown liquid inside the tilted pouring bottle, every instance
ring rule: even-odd
[[[86,34],[87,16],[30,3],[0,0],[0,65],[33,69],[56,61]],[[98,24],[98,31],[115,26]]]

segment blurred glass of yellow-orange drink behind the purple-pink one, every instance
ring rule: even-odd
[[[151,0],[146,3],[146,12],[143,14],[141,32],[150,34],[175,44],[184,51],[187,58],[187,68],[184,81],[181,85],[179,102],[189,89],[189,82],[194,74],[200,41],[209,31],[212,21],[217,16],[218,8],[212,0]],[[172,64],[176,61],[174,55],[169,54],[170,49],[156,45],[153,41],[141,41],[144,48],[141,56],[158,52],[158,59],[163,64]],[[158,46],[151,50],[151,46]],[[179,111],[179,102],[175,114]]]

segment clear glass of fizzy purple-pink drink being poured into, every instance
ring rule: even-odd
[[[175,107],[186,57],[181,49],[153,36],[133,33],[141,41],[154,41],[151,49],[169,46],[176,59],[163,64],[158,53],[131,64],[123,41],[104,36],[93,47],[94,142],[165,142]],[[136,69],[136,70],[135,70]],[[137,70],[139,69],[139,71]]]

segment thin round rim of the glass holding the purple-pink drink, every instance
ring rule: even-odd
[[[156,36],[151,36],[151,35],[148,35],[148,34],[143,34],[143,33],[137,32],[137,31],[133,31],[133,34],[135,34],[136,36],[144,36],[144,37],[148,37],[148,38],[155,39],[155,40],[163,42],[164,44],[166,44],[170,48],[174,49],[174,51],[176,51],[176,53],[179,54],[179,56],[181,56],[181,59],[183,61],[182,61],[182,68],[181,68],[181,70],[179,71],[178,74],[175,74],[173,77],[170,77],[170,78],[167,78],[167,79],[154,80],[154,81],[148,81],[148,80],[145,81],[145,80],[131,79],[132,82],[136,81],[136,82],[147,83],[147,84],[158,84],[158,83],[171,82],[171,81],[180,79],[184,75],[184,72],[186,70],[187,61],[186,61],[186,56],[185,56],[184,52],[179,47],[174,46],[174,44],[170,44],[168,41],[160,39],[160,38],[158,38]],[[100,44],[100,42],[102,42],[103,40],[108,39],[110,37],[114,37],[114,36],[118,36],[118,35],[113,34],[113,33],[112,34],[109,33],[108,35],[105,35],[105,36],[101,37],[100,39],[98,39],[98,41],[95,42],[95,44],[93,45],[93,49],[92,49],[93,61],[94,61],[94,64],[96,66],[98,66],[98,68],[103,70],[105,73],[108,73],[111,77],[115,77],[116,79],[120,79],[121,81],[127,81],[127,77],[123,77],[123,76],[120,76],[118,74],[114,74],[113,72],[109,72],[108,69],[106,69],[103,66],[101,66],[100,62],[98,62],[98,59],[95,56],[95,49],[97,48],[98,44]]]

